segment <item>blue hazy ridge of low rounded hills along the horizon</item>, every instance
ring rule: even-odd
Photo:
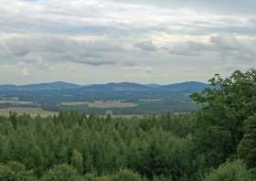
[[[169,85],[159,84],[139,84],[133,82],[121,82],[121,83],[106,83],[106,84],[93,84],[87,86],[81,86],[79,84],[68,83],[63,81],[38,83],[28,85],[0,85],[0,90],[12,90],[12,91],[43,91],[43,90],[74,90],[74,91],[202,91],[208,88],[209,85],[197,81],[187,81],[182,83],[175,83]]]

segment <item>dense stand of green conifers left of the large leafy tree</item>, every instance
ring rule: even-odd
[[[88,174],[97,179],[122,174],[192,179],[197,171],[195,156],[189,153],[192,120],[171,114],[142,118],[79,112],[46,118],[11,114],[0,117],[0,162],[16,160],[44,181]],[[123,168],[133,172],[119,173]]]

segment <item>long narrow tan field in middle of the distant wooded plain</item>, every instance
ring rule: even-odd
[[[87,105],[89,108],[133,108],[137,104],[133,102],[85,102],[85,101],[74,101],[74,102],[61,102],[59,105],[62,106],[81,106]]]

